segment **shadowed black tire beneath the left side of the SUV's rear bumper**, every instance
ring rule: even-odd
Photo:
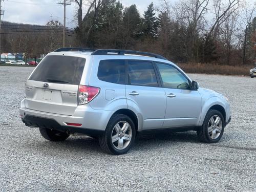
[[[69,137],[69,135],[66,133],[59,132],[56,130],[50,130],[42,127],[39,127],[39,131],[42,137],[44,137],[49,141],[64,141]]]

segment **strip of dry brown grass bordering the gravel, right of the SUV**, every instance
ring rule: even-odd
[[[253,66],[227,66],[211,63],[178,63],[178,66],[186,73],[204,73],[219,75],[249,75]]]

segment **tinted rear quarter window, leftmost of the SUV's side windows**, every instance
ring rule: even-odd
[[[125,60],[109,59],[101,60],[98,69],[99,80],[124,84],[125,82]]]

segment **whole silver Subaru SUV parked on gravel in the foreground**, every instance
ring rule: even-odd
[[[193,130],[218,142],[231,119],[227,100],[157,54],[60,48],[29,76],[19,111],[50,141],[88,135],[119,155],[152,131]]]

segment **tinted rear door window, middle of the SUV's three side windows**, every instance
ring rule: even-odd
[[[132,61],[128,65],[128,84],[158,87],[157,77],[151,61]]]

